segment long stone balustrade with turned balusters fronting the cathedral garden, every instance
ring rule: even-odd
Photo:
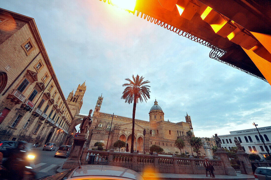
[[[94,164],[105,164],[121,166],[133,169],[134,171],[144,170],[160,173],[184,173],[184,174],[205,174],[204,159],[178,158],[172,156],[143,155],[137,153],[121,153],[108,151],[83,149],[81,165],[88,164],[90,157],[94,155]],[[209,160],[215,168],[215,174],[226,174],[224,163],[221,160]]]

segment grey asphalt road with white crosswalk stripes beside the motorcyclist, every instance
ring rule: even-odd
[[[56,150],[58,147],[56,148]],[[42,148],[35,148],[33,152],[35,154],[35,169],[37,173],[36,177],[41,178],[48,175],[56,174],[56,170],[59,166],[66,161],[65,158],[55,158],[55,151],[43,151]]]

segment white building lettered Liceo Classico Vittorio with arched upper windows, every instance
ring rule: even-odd
[[[268,155],[267,151],[271,151],[271,126],[258,127],[258,130],[260,136],[256,128],[231,131],[229,135],[219,135],[222,142],[221,147],[230,150],[235,146],[234,137],[236,137],[246,153],[258,154],[264,158]],[[261,139],[264,140],[265,147]]]

